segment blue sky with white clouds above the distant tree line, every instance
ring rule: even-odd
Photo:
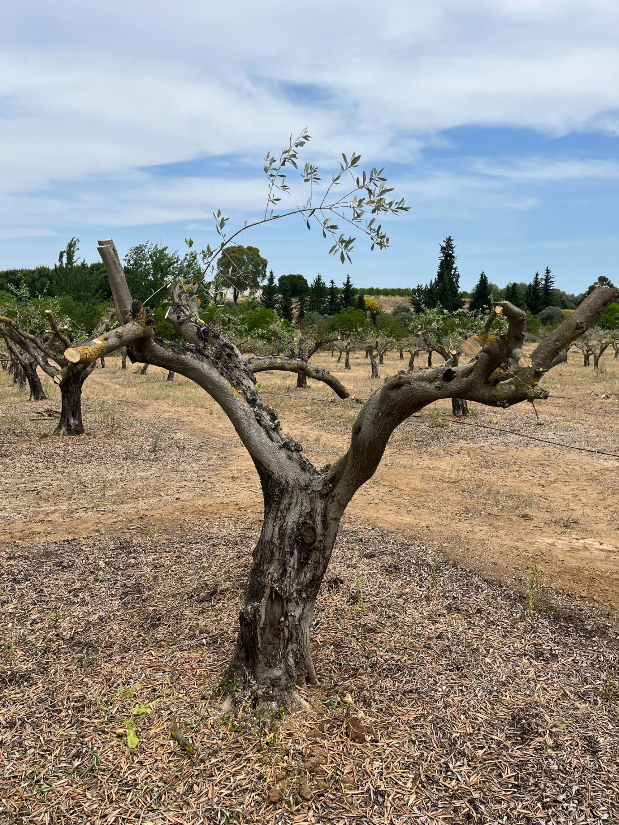
[[[300,221],[253,230],[277,276],[414,285],[451,234],[465,288],[546,265],[569,291],[619,280],[617,2],[220,6],[5,4],[0,268],[52,263],[72,235],[87,260],[97,238],[212,245],[212,210],[254,219],[264,153],[307,126],[303,160],[328,173],[355,150],[411,209],[346,266]]]

